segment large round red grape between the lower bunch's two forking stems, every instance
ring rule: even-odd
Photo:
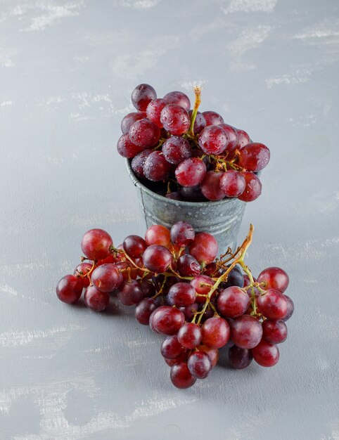
[[[248,309],[250,298],[240,287],[227,287],[219,294],[217,305],[226,318],[237,318]]]

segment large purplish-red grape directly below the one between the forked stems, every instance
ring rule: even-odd
[[[262,325],[253,316],[240,316],[231,324],[231,338],[240,349],[252,349],[262,339]]]

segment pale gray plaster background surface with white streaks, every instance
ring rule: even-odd
[[[0,1],[0,438],[339,439],[335,0]],[[84,231],[144,232],[115,152],[148,82],[271,148],[248,264],[290,274],[281,361],[179,391],[132,311],[58,302]]]

